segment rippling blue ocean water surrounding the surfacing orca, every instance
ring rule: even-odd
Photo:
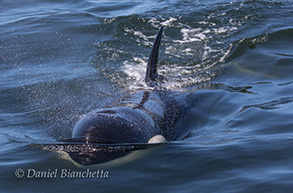
[[[0,5],[0,192],[291,192],[292,1]],[[95,169],[31,146],[143,87],[161,26],[164,86],[197,98],[186,138]]]

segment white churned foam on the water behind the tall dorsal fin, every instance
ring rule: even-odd
[[[225,62],[232,49],[232,44],[225,43],[224,37],[238,29],[234,25],[216,27],[209,21],[198,22],[199,25],[208,27],[194,28],[180,22],[180,18],[152,18],[148,21],[156,28],[159,26],[168,27],[162,40],[159,61],[159,73],[168,79],[164,85],[167,89],[181,89],[186,86],[198,85],[217,76],[215,66]],[[175,30],[178,35],[173,37],[174,35],[170,34],[168,30]],[[124,31],[126,35],[135,36],[136,42],[148,47],[152,45],[155,37],[155,35],[146,35],[143,30],[134,30],[129,27],[124,28]],[[135,90],[144,87],[147,57],[135,56],[125,60],[122,64],[121,69],[129,80],[129,89]]]

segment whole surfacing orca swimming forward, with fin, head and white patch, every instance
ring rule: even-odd
[[[89,166],[110,162],[150,144],[180,140],[196,125],[191,93],[169,91],[158,74],[160,28],[149,57],[145,83],[148,87],[108,101],[87,114],[73,128],[70,139],[39,144],[43,150],[66,152],[74,162]]]

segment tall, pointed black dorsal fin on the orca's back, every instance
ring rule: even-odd
[[[160,31],[158,32],[155,42],[153,44],[153,48],[151,51],[151,55],[148,61],[148,66],[146,70],[146,77],[145,77],[145,82],[147,83],[148,86],[153,85],[155,81],[158,80],[158,58],[159,58],[159,47],[161,43],[161,38],[163,34],[163,29],[164,27],[161,27]]]

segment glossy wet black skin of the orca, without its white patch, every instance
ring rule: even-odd
[[[158,53],[163,27],[157,34],[149,58],[145,81],[153,89],[141,90],[111,101],[89,113],[73,128],[72,139],[95,144],[148,143],[162,135],[167,141],[186,136],[193,124],[188,117],[188,93],[160,88],[157,73]],[[127,152],[69,153],[82,165],[103,163]]]

